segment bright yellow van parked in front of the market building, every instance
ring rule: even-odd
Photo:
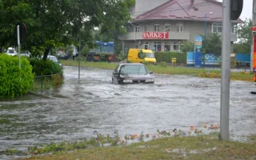
[[[157,63],[157,60],[155,59],[152,50],[147,49],[129,49],[127,61],[132,63]]]

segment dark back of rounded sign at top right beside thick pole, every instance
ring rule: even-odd
[[[243,9],[244,0],[231,0],[231,20],[237,20]]]

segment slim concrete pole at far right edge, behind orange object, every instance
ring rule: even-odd
[[[253,0],[252,2],[252,26],[256,26],[256,19],[255,19],[255,16],[256,16],[256,0]],[[253,73],[253,50],[254,50],[254,47],[253,47],[253,43],[254,43],[254,34],[252,33],[252,44],[251,44],[251,65],[250,65],[250,72]]]

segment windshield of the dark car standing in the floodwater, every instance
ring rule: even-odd
[[[123,65],[121,66],[120,72],[121,74],[146,74],[147,69],[145,68],[144,65]]]

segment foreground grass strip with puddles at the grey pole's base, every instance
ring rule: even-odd
[[[159,138],[128,146],[99,146],[73,152],[61,151],[53,155],[33,156],[23,160],[255,159],[255,148],[255,142],[220,141],[218,134],[209,134]]]

